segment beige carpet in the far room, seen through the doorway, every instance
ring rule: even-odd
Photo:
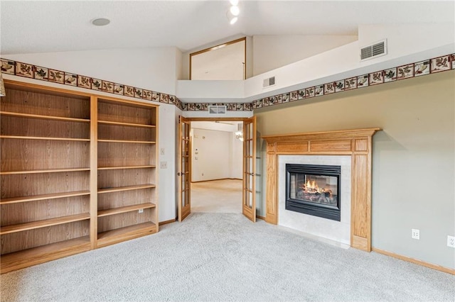
[[[242,213],[242,181],[221,179],[193,182],[191,212]]]

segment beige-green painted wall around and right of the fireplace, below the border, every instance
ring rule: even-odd
[[[382,128],[373,137],[373,247],[455,268],[455,249],[446,246],[455,235],[454,70],[257,109],[255,116],[260,135]]]

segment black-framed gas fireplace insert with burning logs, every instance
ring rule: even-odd
[[[341,220],[341,166],[286,164],[286,209]]]

